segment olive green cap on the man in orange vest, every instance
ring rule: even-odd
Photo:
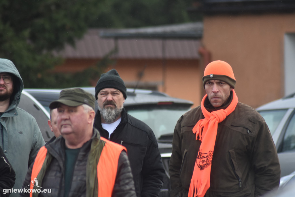
[[[59,94],[58,100],[51,102],[49,108],[55,109],[59,103],[62,103],[71,107],[86,104],[94,109],[94,102],[95,98],[91,93],[81,88],[69,88],[63,89]]]

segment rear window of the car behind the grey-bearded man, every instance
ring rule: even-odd
[[[189,108],[148,108],[130,109],[127,113],[146,123],[159,141],[172,141],[176,122],[188,110]]]

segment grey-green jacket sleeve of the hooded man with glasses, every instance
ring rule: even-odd
[[[37,122],[35,118],[33,119],[33,126],[34,126],[34,140],[31,147],[30,157],[29,157],[29,163],[28,167],[32,164],[32,162],[35,160],[35,157],[37,156],[37,153],[39,149],[45,145],[45,141],[42,137],[42,133],[40,131],[40,128],[37,125]]]

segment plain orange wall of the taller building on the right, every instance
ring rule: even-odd
[[[239,101],[256,108],[284,95],[284,34],[291,32],[295,14],[206,16],[202,42],[212,61],[232,66]]]

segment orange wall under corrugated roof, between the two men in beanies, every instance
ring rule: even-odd
[[[114,68],[127,87],[134,87],[145,65],[139,87],[155,87],[169,96],[194,102],[193,107],[201,103],[202,85],[198,60],[167,60],[164,68],[162,60],[117,60]],[[112,68],[109,66],[106,71]]]

